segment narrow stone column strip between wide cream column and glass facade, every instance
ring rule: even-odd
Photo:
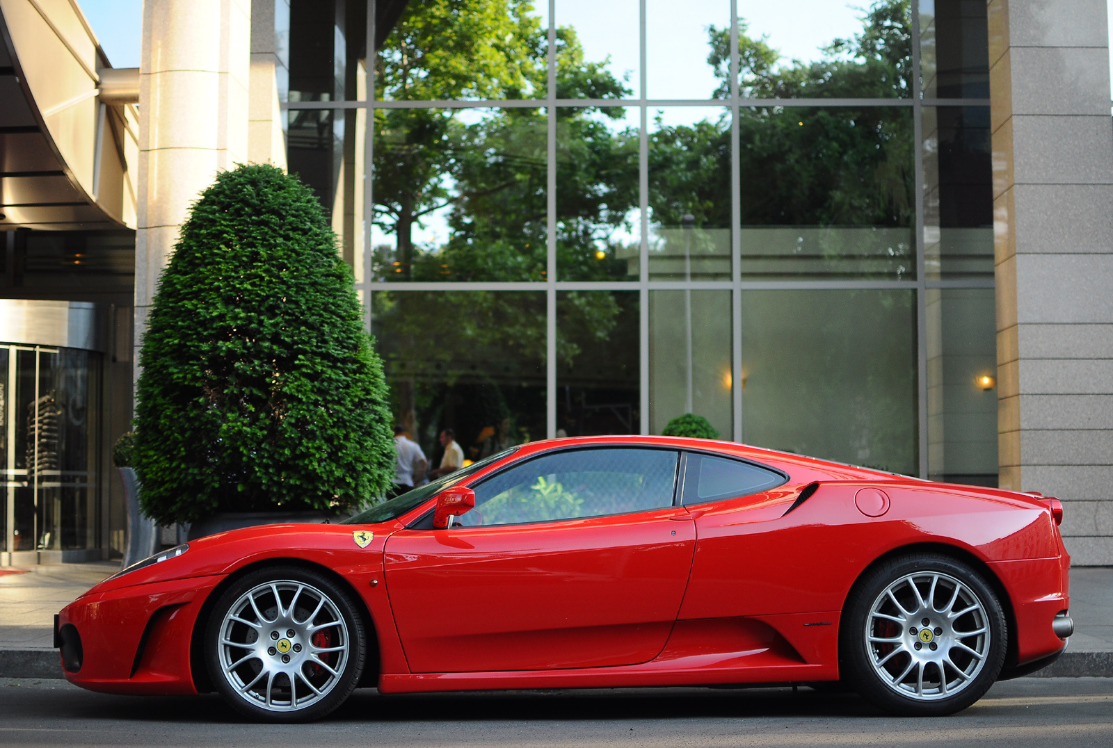
[[[288,43],[288,0],[252,0],[252,88],[247,117],[247,158],[286,168],[286,138],[278,108],[278,81],[289,75],[283,47]]]

